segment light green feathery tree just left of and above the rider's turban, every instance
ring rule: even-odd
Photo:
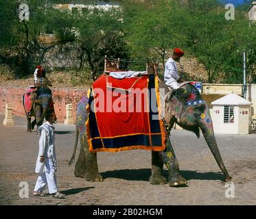
[[[135,57],[160,60],[165,64],[167,51],[181,46],[185,35],[184,11],[177,1],[134,1],[124,4],[126,38]]]

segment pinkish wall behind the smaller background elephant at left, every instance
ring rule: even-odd
[[[73,105],[73,119],[75,121],[76,105],[86,94],[85,89],[69,89],[69,88],[51,88],[54,100],[54,108],[58,122],[64,123],[66,118],[66,105],[72,103]],[[22,104],[22,96],[25,88],[5,88],[0,87],[0,114],[5,114],[5,103],[12,103],[13,116],[24,116],[25,111]]]

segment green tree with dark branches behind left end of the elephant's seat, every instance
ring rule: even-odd
[[[77,27],[80,50],[78,70],[86,64],[91,70],[91,77],[96,79],[105,55],[126,57],[122,12],[118,8],[86,10],[80,14]]]

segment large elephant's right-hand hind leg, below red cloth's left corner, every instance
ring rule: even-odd
[[[97,167],[97,153],[89,152],[89,145],[86,140],[84,140],[83,146],[86,155],[86,181],[104,181]]]

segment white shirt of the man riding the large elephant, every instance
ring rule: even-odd
[[[170,57],[165,63],[165,84],[172,89],[178,89],[179,78],[176,62]]]

